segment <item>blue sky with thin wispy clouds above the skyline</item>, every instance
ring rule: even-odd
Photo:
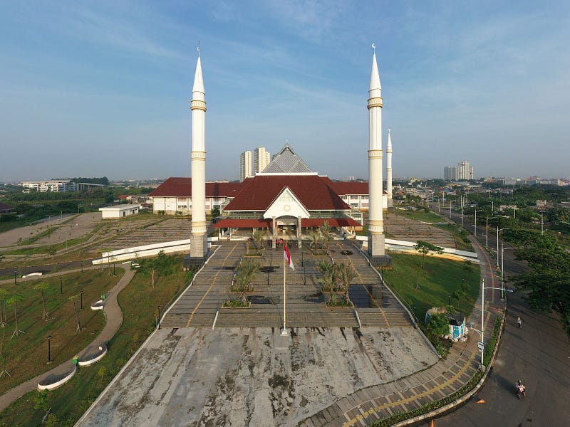
[[[190,176],[200,41],[207,179],[286,140],[368,178],[376,45],[394,176],[566,176],[568,1],[2,1],[0,181]]]

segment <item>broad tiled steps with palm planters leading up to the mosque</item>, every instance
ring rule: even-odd
[[[245,253],[244,242],[222,242],[204,270],[162,320],[164,327],[281,327],[284,323],[283,249],[267,248],[256,258],[261,271],[254,278],[254,292],[248,294],[252,306],[247,309],[222,308],[232,295],[234,269]],[[287,327],[412,327],[409,315],[392,294],[380,284],[380,278],[368,266],[366,258],[353,241],[336,241],[331,257],[314,257],[309,248],[291,248],[295,270],[286,272]],[[358,271],[350,289],[356,307],[326,307],[319,260],[353,265]],[[354,296],[354,297],[353,297]]]

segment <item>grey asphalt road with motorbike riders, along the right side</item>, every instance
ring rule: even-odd
[[[454,214],[452,219],[460,223],[461,214]],[[471,231],[472,222],[464,217]],[[480,235],[484,227],[478,226],[477,232]],[[480,240],[484,243],[484,237]],[[496,244],[496,236],[489,232],[489,247]],[[506,278],[527,268],[514,260],[512,252],[504,251]],[[518,292],[507,297],[507,322],[487,382],[467,404],[435,420],[435,426],[570,426],[569,334],[554,315],[530,309]],[[517,316],[523,319],[522,329],[517,328]],[[520,400],[514,392],[517,379],[527,386],[527,397]],[[477,403],[480,399],[484,404]]]

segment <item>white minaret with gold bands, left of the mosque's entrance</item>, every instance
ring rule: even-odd
[[[192,87],[192,239],[191,258],[207,253],[206,235],[206,96],[198,46],[198,63]]]

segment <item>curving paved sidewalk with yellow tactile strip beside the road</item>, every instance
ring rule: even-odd
[[[494,275],[492,260],[475,238],[471,240],[480,257],[485,287],[497,288],[498,281]],[[490,297],[496,297],[496,295],[492,290],[485,292],[484,342],[487,343],[495,318],[504,313],[504,305],[501,302],[498,304],[492,302],[489,305]],[[467,327],[470,327],[471,323],[477,330],[481,327],[481,302],[482,295],[480,294],[467,321]],[[429,369],[418,371],[387,384],[361,389],[350,396],[339,399],[299,425],[305,427],[368,426],[368,424],[396,413],[412,411],[432,401],[450,396],[465,386],[479,370],[481,354],[477,349],[477,341],[480,339],[480,332],[470,329],[467,342],[453,344],[445,360],[440,359]],[[425,419],[428,418],[426,415]],[[399,425],[405,424],[406,422],[403,422]]]

